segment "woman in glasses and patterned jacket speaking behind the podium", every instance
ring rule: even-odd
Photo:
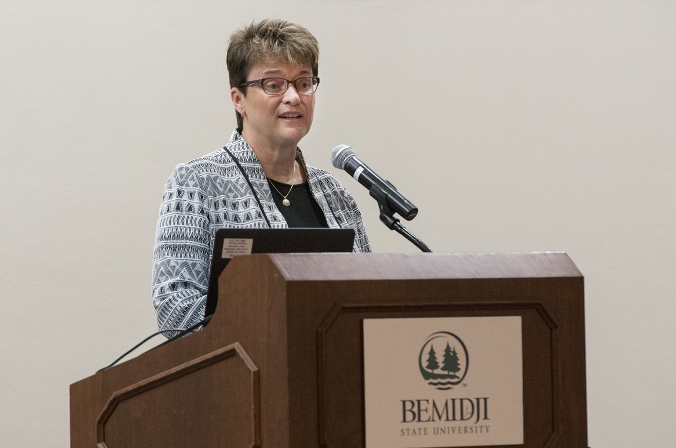
[[[317,41],[305,28],[264,20],[228,46],[237,128],[224,148],[178,165],[162,196],[155,235],[158,327],[204,317],[214,235],[223,227],[347,227],[370,252],[352,196],[297,147],[310,131],[319,84]]]

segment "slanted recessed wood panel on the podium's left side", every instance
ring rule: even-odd
[[[258,368],[235,343],[114,393],[97,447],[256,447],[259,401]]]

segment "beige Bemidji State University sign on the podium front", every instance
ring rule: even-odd
[[[366,448],[523,445],[521,316],[364,319]]]

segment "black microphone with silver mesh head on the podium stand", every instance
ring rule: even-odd
[[[344,169],[356,181],[368,188],[370,195],[373,196],[381,207],[389,208],[390,211],[399,213],[410,221],[418,214],[418,208],[408,199],[404,198],[397,188],[389,181],[377,175],[372,169],[354,155],[354,150],[346,144],[341,144],[331,151],[331,163],[338,169]]]

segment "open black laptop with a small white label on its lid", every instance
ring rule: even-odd
[[[216,311],[218,277],[237,255],[352,252],[354,229],[220,229],[214,239],[205,316]]]

